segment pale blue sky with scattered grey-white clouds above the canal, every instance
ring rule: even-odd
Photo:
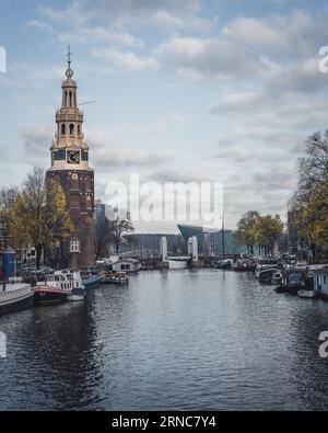
[[[0,184],[49,167],[70,44],[80,101],[96,101],[97,197],[138,172],[223,182],[230,228],[248,209],[284,217],[304,140],[327,127],[327,22],[320,0],[0,0]]]

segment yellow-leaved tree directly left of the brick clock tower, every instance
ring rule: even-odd
[[[25,248],[33,246],[39,269],[43,249],[55,248],[72,231],[73,224],[60,183],[46,181],[44,170],[35,168],[14,203],[11,226],[14,243]]]

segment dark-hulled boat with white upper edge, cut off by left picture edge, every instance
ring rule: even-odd
[[[34,289],[21,280],[1,282],[0,289],[0,316],[22,311],[33,305]]]

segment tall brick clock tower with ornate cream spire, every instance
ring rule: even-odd
[[[70,239],[60,246],[60,267],[83,269],[94,264],[94,171],[89,166],[89,147],[83,135],[83,112],[78,107],[78,86],[71,69],[62,82],[62,102],[56,113],[57,132],[52,141],[48,179],[57,179],[65,191],[74,225]]]

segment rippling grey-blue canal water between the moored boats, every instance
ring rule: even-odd
[[[251,274],[145,272],[0,318],[0,409],[327,409],[328,303]]]

